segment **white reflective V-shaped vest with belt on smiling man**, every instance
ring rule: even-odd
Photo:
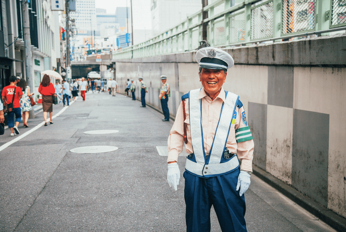
[[[215,177],[231,172],[239,166],[238,157],[224,158],[228,133],[239,96],[226,92],[226,101],[222,104],[219,123],[208,157],[204,151],[202,129],[202,104],[198,99],[201,89],[189,92],[189,115],[193,154],[186,159],[185,170],[199,177]],[[191,157],[192,156],[192,157]]]

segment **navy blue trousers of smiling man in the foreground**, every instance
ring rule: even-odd
[[[186,231],[210,232],[213,205],[222,232],[247,232],[245,197],[236,191],[240,170],[217,177],[197,177],[187,171],[185,178]]]

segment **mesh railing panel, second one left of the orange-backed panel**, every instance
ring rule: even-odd
[[[245,40],[245,12],[229,17],[229,43]]]

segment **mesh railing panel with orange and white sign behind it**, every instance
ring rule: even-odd
[[[283,0],[282,33],[308,31],[315,28],[316,0]]]

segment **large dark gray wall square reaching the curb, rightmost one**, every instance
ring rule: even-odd
[[[327,207],[329,114],[293,111],[292,185]]]

